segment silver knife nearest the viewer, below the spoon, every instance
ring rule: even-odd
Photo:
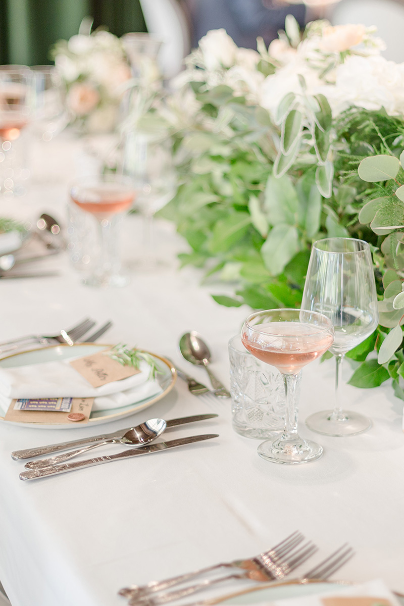
[[[59,465],[53,465],[52,467],[45,467],[44,469],[22,471],[22,473],[19,474],[19,479],[33,480],[36,478],[44,478],[45,476],[53,476],[58,473],[65,473],[65,471],[74,471],[75,469],[80,469],[82,467],[93,467],[93,465],[109,463],[110,461],[116,461],[116,459],[127,459],[131,456],[142,456],[142,454],[158,453],[167,450],[167,448],[175,448],[177,446],[184,446],[186,444],[193,444],[193,442],[201,442],[202,440],[210,440],[211,438],[218,437],[219,434],[217,433],[205,433],[200,436],[189,436],[188,438],[170,440],[170,442],[159,442],[159,444],[150,444],[148,446],[142,446],[141,448],[123,450],[118,454],[106,454],[104,456],[98,456],[94,459],[86,459],[85,461],[61,463]]]

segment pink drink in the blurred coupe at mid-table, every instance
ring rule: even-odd
[[[127,210],[133,202],[134,193],[126,185],[107,183],[93,187],[73,187],[70,196],[82,210],[107,217]]]

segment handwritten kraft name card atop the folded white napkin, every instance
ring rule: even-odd
[[[112,381],[121,381],[121,379],[127,379],[140,372],[133,366],[124,366],[113,360],[105,350],[98,351],[92,356],[72,360],[69,363],[93,387],[101,387]]]

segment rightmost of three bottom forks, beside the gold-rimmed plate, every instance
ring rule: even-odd
[[[259,591],[260,589],[267,587],[282,587],[283,585],[308,585],[311,582],[316,581],[326,581],[329,579],[331,574],[334,574],[337,570],[343,567],[351,558],[353,558],[355,552],[352,547],[349,547],[348,544],[342,545],[336,551],[334,551],[331,556],[325,558],[320,564],[317,564],[316,567],[312,568],[302,577],[295,579],[288,579],[286,581],[274,581],[265,585],[251,587],[249,590],[242,590],[239,593],[230,593],[226,595],[219,596],[217,598],[210,598],[207,600],[202,600],[199,602],[192,602],[185,604],[184,606],[213,606],[214,604],[219,604],[219,602],[223,602],[229,598],[234,598],[241,593],[250,593],[252,591]],[[131,602],[129,602],[131,604]]]

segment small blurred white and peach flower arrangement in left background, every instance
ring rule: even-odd
[[[90,133],[111,131],[131,78],[121,40],[104,30],[79,33],[57,42],[53,58],[65,82],[71,124]]]

